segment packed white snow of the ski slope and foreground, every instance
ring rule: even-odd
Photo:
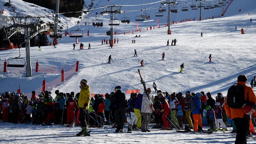
[[[1,0],[5,2],[4,0]],[[102,0],[101,0],[102,1]],[[145,3],[153,1],[143,1]],[[156,2],[156,1],[154,1]],[[191,2],[191,1],[190,1]],[[26,3],[20,0],[12,1],[12,4],[19,4],[26,12],[34,13],[35,9],[26,9]],[[104,5],[110,4],[107,2]],[[111,1],[111,4],[120,4],[117,0]],[[129,4],[128,2],[124,4]],[[137,4],[137,2],[136,2]],[[102,6],[98,3],[98,6]],[[0,92],[17,91],[20,89],[24,93],[30,93],[42,85],[43,80],[46,83],[53,81],[61,74],[61,69],[70,70],[79,61],[79,70],[72,76],[65,79],[60,85],[49,88],[54,93],[60,92],[80,92],[80,81],[86,79],[90,85],[91,93],[110,93],[114,91],[117,85],[122,87],[122,91],[140,89],[138,70],[142,74],[147,87],[152,88],[153,82],[157,88],[163,92],[211,92],[213,98],[218,92],[227,94],[228,88],[236,83],[237,76],[244,74],[248,77],[247,85],[255,76],[255,35],[256,35],[256,2],[247,0],[243,4],[241,1],[234,0],[228,7],[223,17],[217,17],[202,21],[178,22],[171,25],[171,35],[167,35],[167,28],[157,28],[156,17],[154,22],[141,24],[143,31],[135,31],[136,14],[130,14],[130,24],[120,24],[114,27],[114,31],[123,32],[134,30],[134,34],[118,34],[118,44],[113,48],[109,44],[101,44],[101,39],[109,39],[106,31],[110,30],[107,26],[103,28],[94,28],[89,25],[90,36],[78,38],[75,50],[73,43],[75,38],[65,37],[58,41],[57,48],[53,46],[30,47],[31,66],[33,69],[32,77],[25,77],[24,68],[9,68],[3,72],[4,59],[16,57],[19,55],[18,49],[0,51]],[[7,7],[4,7],[7,9]],[[239,12],[241,9],[241,12]],[[157,10],[157,9],[156,9]],[[156,10],[149,10],[154,15]],[[43,10],[42,10],[43,11]],[[212,10],[211,10],[212,11]],[[140,12],[140,11],[139,11]],[[138,12],[138,13],[139,13]],[[204,10],[205,13],[207,11]],[[178,14],[182,13],[178,11]],[[189,14],[199,15],[191,9]],[[11,14],[10,14],[11,15]],[[167,13],[164,13],[166,16]],[[184,15],[184,14],[183,14]],[[217,14],[216,14],[217,15]],[[219,15],[219,13],[218,13]],[[152,16],[153,17],[153,16]],[[177,16],[178,17],[178,16]],[[206,16],[205,16],[206,17]],[[207,16],[207,17],[210,17]],[[181,17],[180,19],[186,19]],[[252,18],[252,22],[250,19]],[[88,20],[88,19],[87,19]],[[92,19],[93,20],[93,19]],[[163,19],[164,20],[164,19]],[[166,20],[166,17],[165,17]],[[179,19],[177,19],[179,20]],[[84,23],[86,19],[82,22]],[[171,16],[172,21],[172,16]],[[82,23],[81,22],[81,23]],[[75,23],[75,22],[73,22]],[[127,26],[128,25],[128,26]],[[155,26],[155,29],[145,30],[147,27]],[[235,30],[237,26],[237,30]],[[77,26],[74,26],[75,29]],[[244,34],[241,34],[241,28]],[[70,28],[71,30],[72,28]],[[88,30],[87,26],[81,26],[84,33]],[[200,37],[200,33],[203,37]],[[140,35],[141,37],[134,37]],[[172,39],[177,39],[177,44],[171,46]],[[132,40],[136,43],[132,44]],[[169,39],[170,46],[166,46]],[[84,44],[84,49],[79,49],[79,44]],[[91,49],[88,44],[91,44]],[[137,50],[138,57],[134,57],[134,49]],[[13,52],[12,52],[13,51]],[[20,49],[21,57],[25,59],[25,48]],[[164,60],[161,60],[162,53],[165,53]],[[209,55],[212,54],[212,61],[208,62]],[[108,64],[108,56],[112,56],[111,64]],[[140,61],[144,60],[144,66],[140,67]],[[35,72],[36,61],[39,67],[44,67],[45,72]],[[184,62],[184,73],[180,73],[180,65]],[[51,68],[55,68],[52,70]],[[54,71],[52,73],[52,71]],[[59,72],[55,72],[59,71]],[[254,88],[255,89],[255,88]],[[47,89],[46,89],[47,90]],[[38,93],[37,93],[38,94]],[[156,93],[153,93],[155,96]],[[55,95],[52,95],[55,97]],[[129,99],[130,94],[126,95]],[[154,124],[153,124],[154,125]],[[32,124],[12,124],[0,122],[1,131],[0,141],[2,143],[234,143],[235,134],[230,133],[232,127],[228,127],[226,132],[213,132],[212,134],[200,133],[177,133],[176,131],[164,131],[150,129],[151,132],[141,133],[134,131],[126,133],[115,133],[115,129],[106,125],[106,128],[89,128],[92,130],[91,137],[59,137],[54,133],[62,135],[75,135],[81,130],[80,127],[66,128],[65,126],[52,125],[41,126]],[[152,125],[150,124],[150,127]],[[207,130],[208,127],[203,127]],[[107,135],[107,136],[106,136]],[[247,143],[255,143],[254,139],[247,139]]]

